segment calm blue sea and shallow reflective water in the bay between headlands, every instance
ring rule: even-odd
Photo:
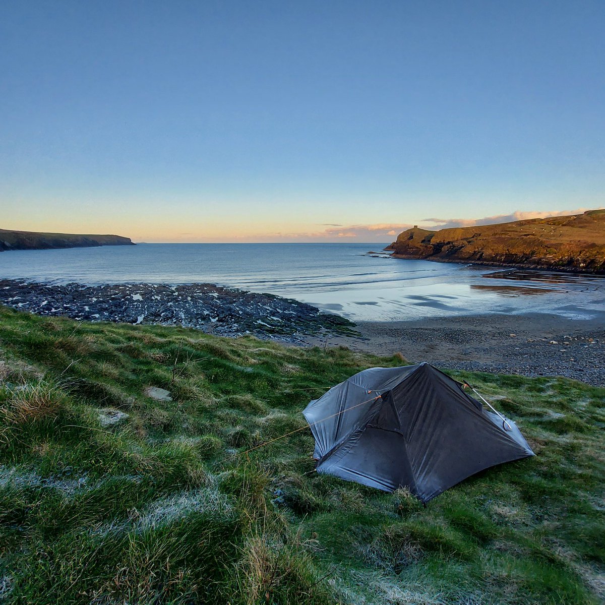
[[[605,310],[605,278],[394,259],[381,253],[385,245],[139,244],[19,250],[0,253],[0,278],[54,284],[212,283],[295,298],[354,321],[528,312],[581,319]]]

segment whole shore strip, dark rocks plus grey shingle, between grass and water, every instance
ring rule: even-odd
[[[217,336],[252,334],[295,345],[344,345],[401,353],[438,367],[566,376],[605,386],[605,312],[594,319],[548,313],[352,322],[270,294],[212,284],[84,286],[0,280],[0,304],[39,315],[193,327]]]

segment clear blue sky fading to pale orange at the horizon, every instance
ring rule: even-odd
[[[0,2],[0,227],[388,241],[605,204],[603,0]]]

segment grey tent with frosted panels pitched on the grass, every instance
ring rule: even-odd
[[[316,470],[422,502],[489,466],[534,456],[512,420],[426,363],[370,368],[303,412]]]

